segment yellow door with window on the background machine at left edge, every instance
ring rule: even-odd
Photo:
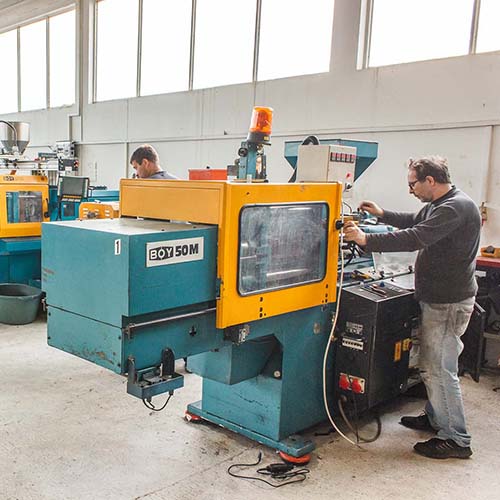
[[[42,222],[49,220],[48,185],[12,178],[0,180],[0,237],[40,236]]]

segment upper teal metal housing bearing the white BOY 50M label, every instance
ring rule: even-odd
[[[42,226],[48,303],[122,327],[123,318],[215,300],[217,227],[136,219]],[[59,279],[74,276],[75,284]]]

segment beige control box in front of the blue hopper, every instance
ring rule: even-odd
[[[299,146],[298,182],[342,182],[345,196],[354,182],[355,168],[356,148],[339,144]]]

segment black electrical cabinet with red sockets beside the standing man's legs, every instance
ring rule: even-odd
[[[349,411],[354,405],[361,413],[406,390],[417,315],[413,291],[391,282],[342,290],[334,386]]]

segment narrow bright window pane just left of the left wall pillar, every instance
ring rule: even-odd
[[[50,107],[75,102],[75,11],[49,18]]]

